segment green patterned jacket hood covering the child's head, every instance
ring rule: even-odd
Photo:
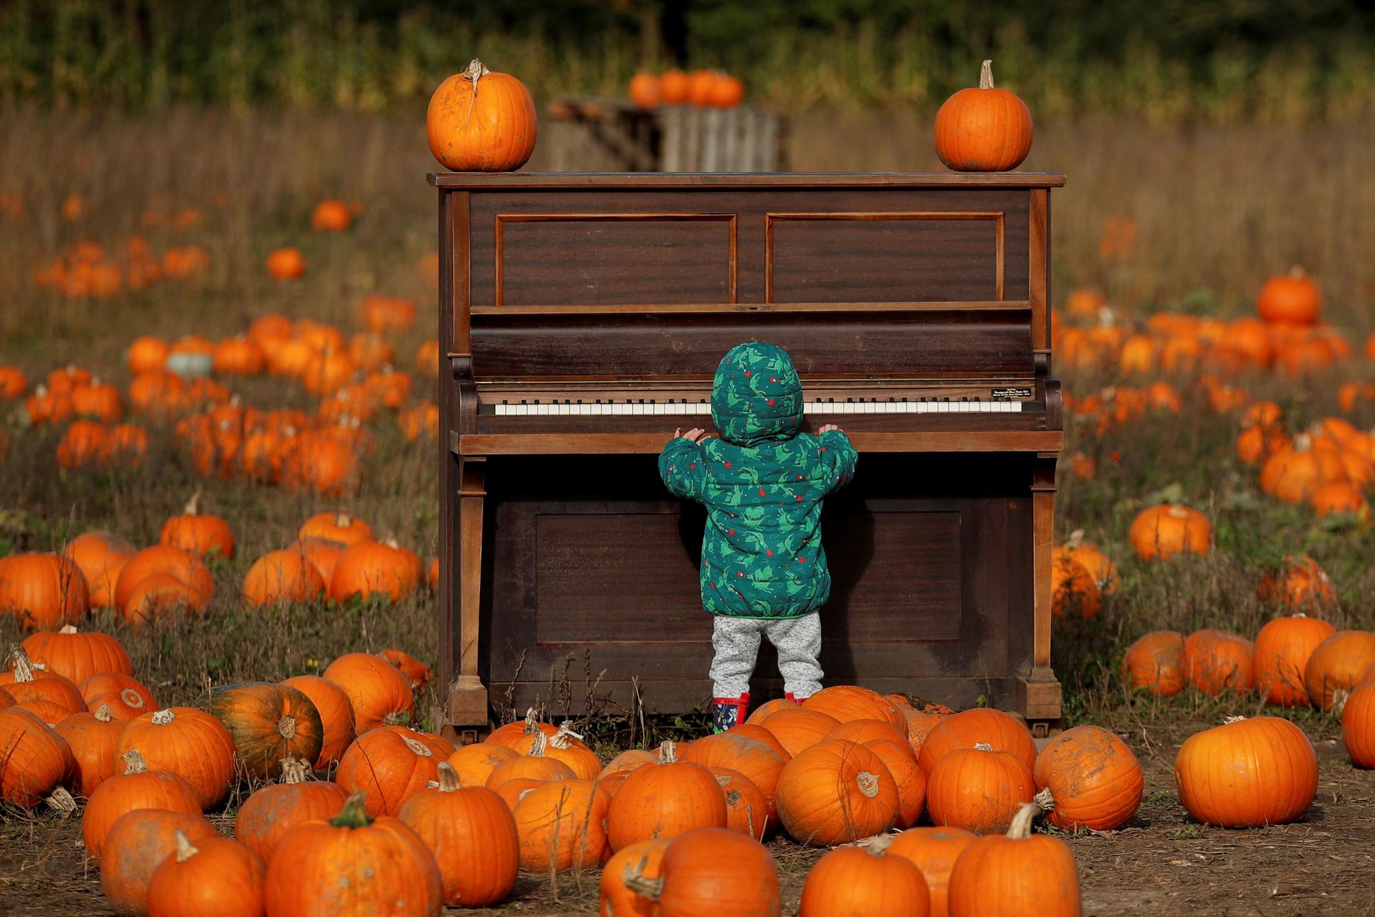
[[[711,385],[711,419],[737,445],[789,440],[802,425],[802,379],[777,344],[737,344],[720,359]]]

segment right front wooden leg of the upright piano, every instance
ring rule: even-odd
[[[1037,456],[1031,484],[1034,527],[1031,671],[1018,678],[1018,709],[1031,734],[1049,736],[1060,726],[1060,682],[1050,668],[1050,551],[1055,547],[1055,454]]]

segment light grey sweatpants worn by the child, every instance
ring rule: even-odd
[[[718,615],[711,630],[716,657],[711,660],[714,697],[740,697],[749,690],[749,676],[759,656],[759,638],[778,650],[778,671],[785,692],[799,700],[821,690],[821,615],[763,619]]]

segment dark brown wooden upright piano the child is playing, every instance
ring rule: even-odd
[[[1042,173],[458,175],[439,190],[450,725],[708,701],[704,514],[654,456],[744,340],[859,450],[826,500],[828,683],[1060,715]],[[550,697],[560,674],[579,683]],[[566,692],[566,687],[565,687]],[[556,692],[557,693],[557,692]],[[754,703],[781,694],[764,643]]]

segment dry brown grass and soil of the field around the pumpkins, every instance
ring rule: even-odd
[[[0,364],[30,379],[74,363],[124,389],[124,349],[139,334],[220,338],[276,311],[358,327],[363,296],[412,298],[414,329],[395,335],[397,363],[434,334],[433,168],[418,111],[395,115],[176,110],[128,115],[43,111],[0,114]],[[813,115],[792,132],[796,169],[930,169],[925,122],[909,113]],[[1265,126],[1163,129],[1141,122],[1050,122],[1038,129],[1026,168],[1068,175],[1055,194],[1056,300],[1077,286],[1103,289],[1126,320],[1156,309],[1240,315],[1269,274],[1299,261],[1321,282],[1327,315],[1357,345],[1375,329],[1375,261],[1368,239],[1375,181],[1364,169],[1370,122],[1323,128],[1323,144],[1299,132]],[[855,137],[870,137],[855,140]],[[881,143],[873,139],[881,137]],[[557,142],[550,132],[542,143]],[[538,168],[536,153],[532,168]],[[80,216],[63,203],[80,199]],[[362,216],[344,234],[309,230],[316,201],[358,201]],[[188,212],[176,227],[177,214]],[[73,217],[73,219],[67,219]],[[1130,231],[1123,227],[1130,223]],[[170,224],[170,225],[169,225]],[[67,298],[38,289],[33,276],[77,241],[120,253],[131,236],[154,252],[199,245],[209,267],[186,280],[162,280],[104,298]],[[267,252],[298,245],[308,261],[297,283],[263,271]],[[118,257],[118,256],[117,256]],[[1062,367],[1072,395],[1122,384],[1103,368]],[[1292,429],[1341,415],[1338,385],[1375,371],[1356,357],[1317,374],[1248,374],[1233,379],[1255,397],[1277,401]],[[1066,686],[1066,725],[1100,723],[1122,734],[1147,769],[1147,803],[1126,829],[1071,837],[1092,913],[1159,913],[1194,906],[1204,913],[1371,913],[1370,802],[1375,782],[1352,769],[1330,718],[1299,715],[1319,747],[1320,806],[1308,821],[1268,832],[1224,832],[1188,821],[1174,799],[1178,742],[1226,714],[1257,714],[1254,697],[1213,700],[1192,690],[1170,701],[1132,697],[1116,676],[1125,646],[1148,630],[1199,627],[1253,637],[1273,612],[1260,602],[1262,568],[1306,553],[1332,576],[1338,627],[1375,627],[1371,529],[1338,527],[1306,509],[1260,494],[1254,469],[1235,458],[1238,418],[1216,412],[1196,377],[1170,377],[1182,393],[1178,414],[1154,414],[1099,432],[1074,422],[1068,451],[1094,459],[1092,480],[1062,473],[1056,532],[1072,529],[1119,564],[1122,583],[1096,621],[1057,626],[1055,665]],[[417,374],[412,400],[433,399],[433,379]],[[235,384],[245,403],[314,411],[316,399],[294,382]],[[312,513],[342,510],[395,535],[426,560],[436,550],[437,445],[410,443],[395,415],[370,425],[377,448],[358,491],[341,499],[289,494],[242,478],[201,480],[168,426],[148,423],[150,447],[138,469],[66,470],[54,463],[60,428],[23,428],[14,404],[0,404],[8,456],[0,461],[0,554],[58,550],[74,533],[110,529],[136,544],[157,540],[162,521],[197,489],[202,506],[224,516],[238,538],[234,560],[213,562],[216,594],[201,617],[158,620],[142,634],[109,615],[92,626],[124,641],[136,671],[162,704],[190,703],[210,682],[276,681],[318,672],[351,650],[403,649],[437,663],[437,602],[419,594],[397,606],[351,602],[248,610],[238,590],[252,560],[283,547]],[[1348,415],[1375,425],[1375,404]],[[1216,524],[1214,551],[1162,566],[1133,560],[1126,529],[1136,511],[1173,491]],[[0,619],[0,645],[21,635]],[[437,722],[436,694],[419,703]],[[634,734],[690,733],[652,722],[649,734],[624,722],[591,725],[624,747]],[[98,883],[72,848],[70,824],[0,815],[0,912],[103,913]],[[1364,851],[1361,846],[1364,844]],[[1288,861],[1305,850],[1302,868]],[[776,844],[785,887],[796,902],[814,861]],[[1321,859],[1327,857],[1328,859]],[[1180,865],[1173,865],[1180,863]],[[1253,872],[1254,870],[1254,872]],[[1162,877],[1169,884],[1162,884]],[[1247,879],[1251,876],[1251,879]],[[522,913],[591,913],[594,876],[525,877]],[[1361,910],[1361,909],[1367,910]]]

